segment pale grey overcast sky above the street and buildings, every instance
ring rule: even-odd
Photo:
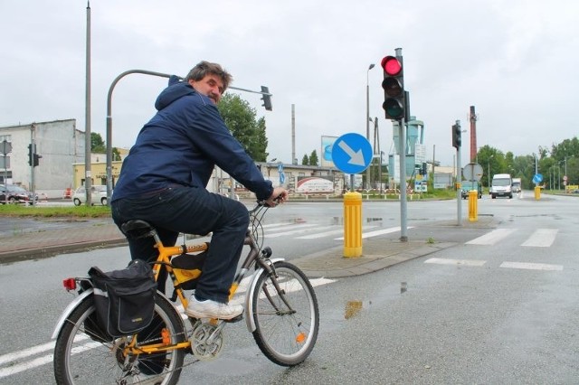
[[[0,126],[76,118],[84,130],[86,8],[81,0],[0,0]],[[92,0],[90,20],[91,128],[103,139],[120,73],[185,76],[207,60],[223,64],[235,87],[270,88],[271,112],[259,95],[240,93],[266,118],[270,159],[291,162],[292,104],[299,163],[320,155],[321,136],[365,136],[366,76],[370,116],[389,153],[379,63],[398,47],[429,159],[435,148],[436,160],[452,163],[451,125],[460,119],[469,129],[470,106],[478,146],[504,153],[531,155],[579,131],[576,0]],[[140,74],[119,81],[112,146],[132,146],[165,86]]]

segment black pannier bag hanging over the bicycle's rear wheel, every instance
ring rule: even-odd
[[[127,268],[103,273],[92,267],[97,319],[113,337],[138,333],[153,320],[157,282],[147,262],[133,259]]]

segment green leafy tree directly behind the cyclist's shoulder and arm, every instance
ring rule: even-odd
[[[225,125],[242,144],[248,155],[256,162],[265,162],[268,139],[265,134],[265,118],[256,118],[255,108],[250,107],[239,95],[226,93],[217,105]]]

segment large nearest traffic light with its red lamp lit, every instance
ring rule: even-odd
[[[402,56],[385,56],[381,65],[384,70],[382,108],[386,113],[386,119],[401,120],[406,117]]]

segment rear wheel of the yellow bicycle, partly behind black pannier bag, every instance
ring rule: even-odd
[[[54,347],[54,378],[57,384],[138,383],[150,379],[147,369],[149,373],[162,371],[154,375],[156,379],[158,377],[156,383],[176,384],[183,367],[185,350],[125,357],[122,346],[129,343],[133,336],[113,338],[97,333],[94,324],[90,326],[95,315],[94,298],[88,296],[63,324]],[[138,333],[138,340],[158,343],[152,340],[159,339],[158,333],[162,327],[168,330],[172,343],[185,341],[185,326],[180,315],[164,296],[157,293],[153,321]],[[123,370],[121,364],[130,369]],[[154,365],[157,365],[156,369],[151,369]]]

